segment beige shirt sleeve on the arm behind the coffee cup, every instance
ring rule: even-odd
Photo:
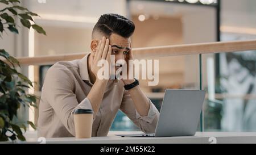
[[[43,92],[61,123],[69,133],[75,136],[73,110],[77,108],[92,109],[92,106],[87,98],[80,103],[77,101],[76,94],[73,92],[75,83],[69,78],[70,76],[72,74],[68,69],[58,66],[50,68],[44,81]]]

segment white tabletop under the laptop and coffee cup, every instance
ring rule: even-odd
[[[195,136],[182,137],[119,137],[115,134],[141,133],[141,132],[125,132],[110,131],[106,137],[92,137],[90,139],[68,138],[49,138],[46,143],[83,143],[83,144],[210,144],[210,143],[256,143],[256,132],[196,132]],[[27,137],[26,143],[38,143],[36,137]]]

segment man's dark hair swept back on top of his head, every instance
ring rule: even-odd
[[[95,31],[104,33],[107,37],[112,33],[117,33],[122,37],[130,37],[135,30],[134,23],[118,14],[104,14],[93,28],[92,36]]]

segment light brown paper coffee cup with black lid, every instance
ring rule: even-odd
[[[76,109],[73,111],[75,134],[78,139],[92,136],[93,111],[90,109]]]

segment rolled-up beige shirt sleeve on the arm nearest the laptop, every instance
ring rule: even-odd
[[[150,99],[148,99],[148,102],[150,102],[150,109],[148,111],[148,115],[139,115],[130,94],[125,90],[120,110],[124,112],[127,117],[131,119],[131,121],[133,121],[133,123],[141,129],[141,131],[143,131],[144,133],[154,133],[159,118],[159,112]]]

